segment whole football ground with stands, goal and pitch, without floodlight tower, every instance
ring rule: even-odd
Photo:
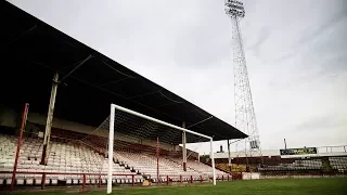
[[[347,145],[214,148],[248,134],[1,4],[1,194],[347,193]]]

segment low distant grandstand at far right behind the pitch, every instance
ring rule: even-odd
[[[262,151],[262,156],[253,157],[233,152],[231,166],[227,153],[216,153],[215,157],[216,167],[229,173],[244,172],[248,166],[250,171],[259,172],[260,176],[344,176],[347,173],[346,148],[346,145],[340,145],[268,150]]]

